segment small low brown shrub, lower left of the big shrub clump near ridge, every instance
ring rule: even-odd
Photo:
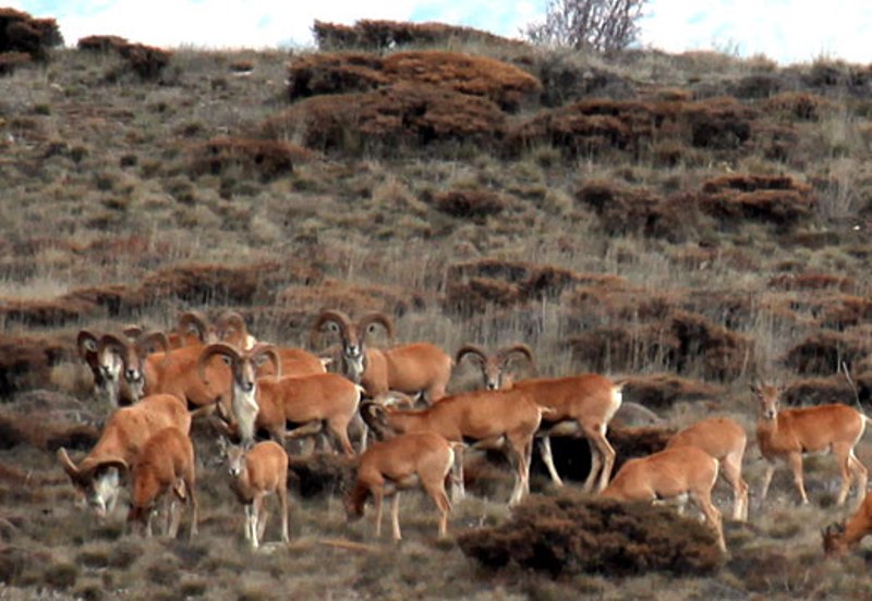
[[[229,168],[240,169],[246,175],[257,175],[269,181],[293,171],[294,163],[307,161],[313,154],[287,142],[221,137],[193,147],[193,172],[218,175]]]

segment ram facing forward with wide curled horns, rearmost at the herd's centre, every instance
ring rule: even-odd
[[[342,372],[376,398],[388,391],[421,395],[432,404],[445,396],[451,378],[451,357],[438,346],[414,342],[385,351],[372,348],[366,336],[382,326],[393,340],[393,322],[384,312],[364,315],[356,323],[339,310],[326,310],[312,328],[313,342],[324,329],[338,333],[342,342]]]

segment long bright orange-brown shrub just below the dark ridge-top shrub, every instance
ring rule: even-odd
[[[507,109],[517,108],[524,97],[542,88],[538,79],[525,71],[496,59],[421,50],[387,57],[360,52],[301,57],[289,66],[288,94],[293,101],[401,83],[480,96]]]

